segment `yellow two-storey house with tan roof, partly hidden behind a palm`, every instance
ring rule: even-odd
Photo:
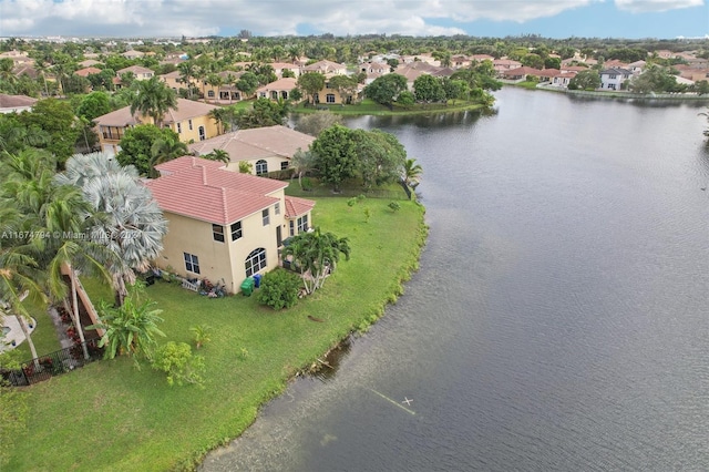
[[[192,100],[177,99],[177,109],[169,110],[163,116],[163,126],[169,127],[183,143],[205,141],[219,134],[219,127],[209,116],[217,106]],[[120,141],[125,130],[137,124],[154,124],[150,116],[135,116],[131,107],[124,106],[94,120],[99,131],[101,151],[115,154],[120,151]]]

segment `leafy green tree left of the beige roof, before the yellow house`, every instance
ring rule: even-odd
[[[168,127],[160,129],[152,124],[131,127],[121,138],[121,151],[115,158],[121,165],[135,166],[141,175],[151,175],[153,145],[161,140],[174,143],[179,142],[179,136]]]

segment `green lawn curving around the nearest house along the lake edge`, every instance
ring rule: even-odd
[[[212,342],[199,351],[205,389],[171,388],[164,374],[147,366],[138,370],[126,358],[27,388],[29,433],[17,441],[8,470],[194,468],[207,451],[239,435],[288,379],[395,301],[425,238],[422,207],[400,203],[393,212],[388,199],[352,207],[345,198],[318,199],[315,224],[349,237],[352,258],[289,310],[261,307],[255,296],[209,299],[162,281],[147,287],[163,309],[167,338],[161,341],[192,342],[192,326],[213,327]],[[93,297],[111,299],[105,288],[84,285]]]

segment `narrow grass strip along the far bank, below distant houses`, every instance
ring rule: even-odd
[[[427,104],[427,105],[412,105],[408,107],[397,106],[394,105],[392,110],[388,106],[380,105],[379,103],[373,102],[372,100],[364,99],[360,103],[356,103],[353,105],[327,105],[323,103],[318,104],[318,106],[305,106],[304,103],[299,103],[298,105],[292,107],[294,113],[316,113],[320,110],[329,110],[332,113],[337,113],[340,115],[414,115],[414,114],[428,114],[428,113],[448,113],[448,112],[460,112],[464,110],[476,110],[481,109],[481,105],[477,102],[465,102],[458,101],[455,104],[453,102],[449,102],[448,104]]]

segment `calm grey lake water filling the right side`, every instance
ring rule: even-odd
[[[497,99],[348,123],[424,168],[421,270],[205,471],[709,469],[702,109]]]

